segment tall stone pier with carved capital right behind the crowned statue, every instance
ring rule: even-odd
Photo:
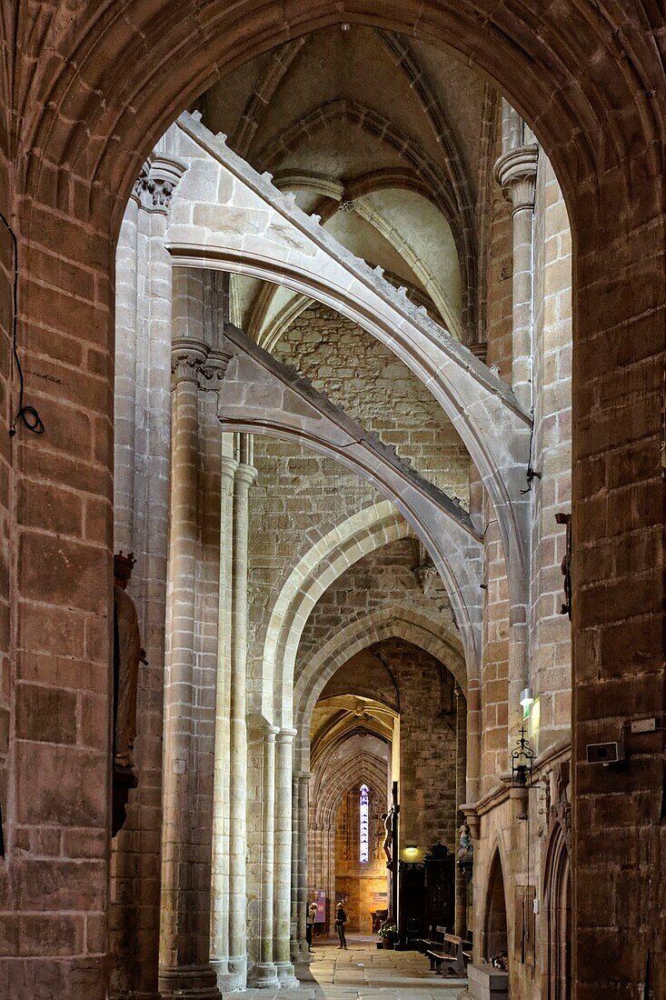
[[[133,551],[129,593],[148,665],[134,748],[139,784],[112,841],[109,997],[156,1000],[160,933],[162,728],[171,450],[172,268],[164,246],[185,164],[153,155],[128,202],[116,255],[114,548]]]

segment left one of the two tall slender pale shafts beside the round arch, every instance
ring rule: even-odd
[[[211,955],[222,992],[231,989],[229,971],[229,856],[231,735],[231,605],[234,478],[233,436],[222,437],[220,489],[220,609],[215,709],[213,850],[211,870]],[[244,981],[242,985],[245,985]],[[237,987],[236,987],[237,988]]]

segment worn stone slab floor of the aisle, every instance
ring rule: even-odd
[[[335,942],[315,939],[312,963],[297,969],[298,989],[248,990],[258,1000],[457,1000],[466,979],[445,979],[429,971],[428,959],[416,951],[377,948],[376,937],[347,935],[347,951]]]

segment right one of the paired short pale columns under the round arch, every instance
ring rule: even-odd
[[[280,986],[297,986],[290,961],[291,924],[291,813],[295,729],[277,734],[275,759],[275,937],[273,953]]]

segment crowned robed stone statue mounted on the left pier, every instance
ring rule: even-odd
[[[114,769],[134,767],[139,664],[148,662],[141,646],[136,607],[126,593],[134,563],[131,552],[113,557]]]

